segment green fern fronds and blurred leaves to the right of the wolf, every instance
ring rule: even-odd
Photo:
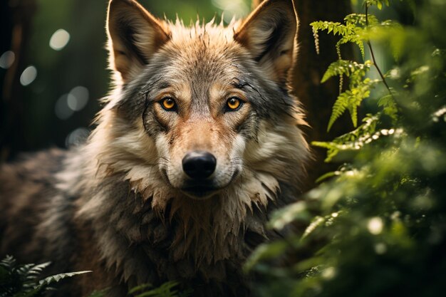
[[[364,3],[366,11],[370,5],[389,5]],[[411,8],[414,3],[404,2]],[[386,74],[377,68],[379,82],[368,84],[370,62],[367,66],[340,59],[328,68],[324,81],[335,75],[350,78],[348,90],[333,107],[330,125],[344,110],[352,120],[358,117],[353,108],[363,100],[370,113],[352,132],[313,143],[328,149],[327,162],[341,165],[321,177],[322,183],[303,200],[271,217],[271,228],[289,223],[300,228],[260,246],[250,257],[245,268],[261,277],[255,287],[258,296],[444,294],[446,37],[441,32],[446,1],[416,5],[412,26],[379,23],[368,14],[367,19],[348,16],[348,24],[313,23],[317,30],[341,36],[356,32],[368,44],[370,56],[376,50],[372,42],[382,44],[388,56],[396,56],[392,51],[398,48],[398,61]],[[391,43],[398,44],[386,46]],[[358,87],[362,95],[351,98]],[[284,263],[284,254],[291,260]]]

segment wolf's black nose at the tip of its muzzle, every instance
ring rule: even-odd
[[[210,152],[195,150],[182,159],[182,170],[193,179],[205,179],[214,173],[217,159]]]

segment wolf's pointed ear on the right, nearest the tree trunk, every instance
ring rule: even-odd
[[[285,83],[296,58],[298,20],[292,0],[266,0],[234,33],[270,78]]]

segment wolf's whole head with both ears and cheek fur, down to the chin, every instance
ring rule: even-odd
[[[110,145],[130,142],[117,155],[139,168],[118,170],[194,199],[261,174],[290,179],[289,160],[306,155],[286,86],[296,27],[291,0],[264,1],[227,27],[192,28],[155,19],[135,1],[110,1],[110,65],[120,85],[105,108],[120,126]]]

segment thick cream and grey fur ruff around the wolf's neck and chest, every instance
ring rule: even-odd
[[[295,188],[308,158],[295,120],[261,125],[257,140],[247,144],[242,175],[215,197],[197,201],[162,179],[155,145],[141,123],[125,123],[115,110],[103,110],[98,122],[80,157],[68,160],[61,184],[76,183],[66,189],[83,193],[76,215],[92,224],[106,266],[124,271],[125,281],[156,281],[147,269],[154,263],[158,275],[175,279],[169,271],[181,269],[163,270],[160,263],[187,267],[187,278],[200,267],[243,261],[254,247],[245,234],[266,237],[264,212],[277,199],[294,199],[283,197],[280,184]],[[76,179],[71,166],[79,163],[84,176]]]

